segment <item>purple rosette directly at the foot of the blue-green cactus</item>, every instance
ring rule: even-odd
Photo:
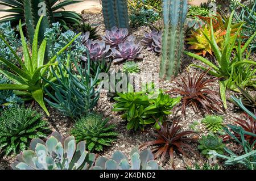
[[[105,36],[102,37],[102,41],[106,44],[116,47],[119,43],[123,43],[128,37],[129,31],[126,28],[111,28],[111,31],[106,30]]]

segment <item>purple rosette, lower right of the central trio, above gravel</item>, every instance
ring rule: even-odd
[[[141,51],[143,47],[141,44],[135,44],[135,37],[129,36],[124,43],[118,44],[118,50],[116,48],[112,49],[114,56],[114,63],[118,63],[125,60],[134,60],[134,59],[142,59],[143,55]]]

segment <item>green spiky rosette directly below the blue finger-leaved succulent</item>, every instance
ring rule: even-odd
[[[118,133],[114,132],[115,125],[106,125],[109,119],[102,119],[101,115],[89,113],[82,117],[72,129],[77,142],[86,141],[89,151],[103,151],[103,146],[111,146]]]

